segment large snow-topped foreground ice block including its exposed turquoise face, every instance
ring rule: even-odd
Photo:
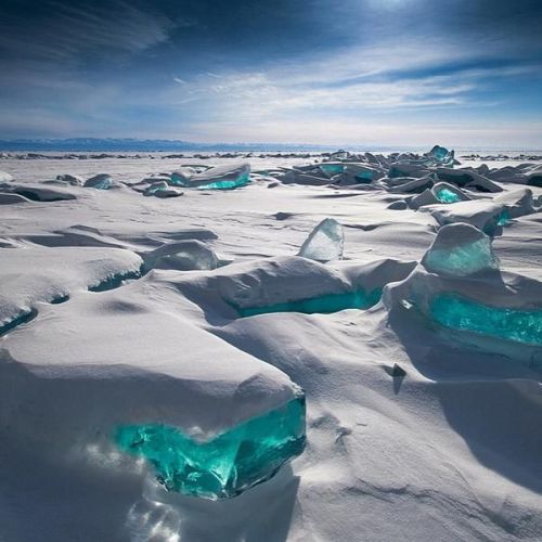
[[[169,310],[164,299],[171,300]],[[302,390],[176,313],[180,300],[170,285],[143,280],[70,299],[65,310],[33,322],[28,335],[8,335],[14,363],[0,359],[2,396],[15,382],[10,371],[26,367],[33,389],[55,397],[33,402],[20,417],[21,431],[39,425],[35,438],[43,453],[60,457],[77,439],[117,444],[143,456],[168,490],[207,499],[234,496],[299,455]],[[25,385],[16,379],[10,393]],[[64,410],[77,414],[51,435]]]

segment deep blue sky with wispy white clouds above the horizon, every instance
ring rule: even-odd
[[[0,138],[542,149],[540,0],[1,0]]]

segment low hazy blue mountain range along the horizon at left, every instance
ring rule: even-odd
[[[323,145],[292,143],[194,143],[166,139],[15,139],[0,140],[0,151],[63,151],[63,152],[259,152],[259,151],[330,151]]]

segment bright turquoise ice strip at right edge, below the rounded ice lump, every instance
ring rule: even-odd
[[[542,345],[542,310],[517,310],[490,307],[456,294],[440,294],[429,306],[433,319],[453,330],[467,331]]]

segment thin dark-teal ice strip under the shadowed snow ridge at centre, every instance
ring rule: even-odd
[[[375,288],[369,294],[363,289],[345,292],[343,294],[328,294],[308,299],[297,299],[282,304],[268,305],[267,307],[236,307],[240,315],[254,317],[269,312],[302,312],[305,314],[331,314],[345,309],[370,309],[382,297],[382,288]]]

